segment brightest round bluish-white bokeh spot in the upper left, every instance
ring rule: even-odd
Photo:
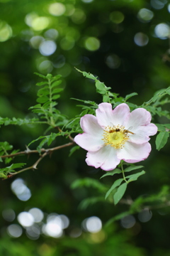
[[[55,53],[56,49],[57,49],[56,43],[50,40],[43,41],[39,47],[40,53],[44,56],[52,55],[53,53]]]

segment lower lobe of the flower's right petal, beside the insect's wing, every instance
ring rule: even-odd
[[[147,126],[139,126],[132,130],[134,134],[128,133],[129,142],[143,144],[145,142],[149,142],[149,136],[157,133],[157,126],[155,124],[148,124]]]

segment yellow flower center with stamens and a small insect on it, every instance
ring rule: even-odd
[[[125,142],[129,139],[128,132],[130,131],[119,124],[113,127],[107,126],[104,129],[102,140],[106,145],[111,145],[115,149],[122,149]],[[130,133],[133,134],[132,132]]]

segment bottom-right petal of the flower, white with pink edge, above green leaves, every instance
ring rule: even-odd
[[[124,161],[142,161],[147,159],[151,151],[151,145],[147,142],[144,144],[135,144],[125,142],[123,149],[118,149],[118,159]]]

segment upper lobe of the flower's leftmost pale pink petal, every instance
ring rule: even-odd
[[[84,132],[90,134],[94,137],[100,137],[103,134],[103,129],[97,122],[97,118],[92,114],[85,114],[84,117],[80,119],[80,126]]]

